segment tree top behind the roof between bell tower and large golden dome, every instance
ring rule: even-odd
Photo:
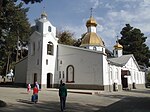
[[[76,42],[74,34],[69,31],[58,32],[57,38],[60,44],[73,45]]]

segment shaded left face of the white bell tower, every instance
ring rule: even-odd
[[[35,50],[33,51],[33,43],[35,43]],[[41,49],[42,36],[38,32],[34,32],[30,37],[29,51],[28,51],[28,68],[27,68],[27,83],[34,83],[34,73],[37,74],[37,81],[41,82]]]

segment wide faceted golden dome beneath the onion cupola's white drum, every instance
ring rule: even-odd
[[[85,45],[104,46],[102,39],[99,38],[95,32],[85,34],[85,36],[82,39],[81,46]]]

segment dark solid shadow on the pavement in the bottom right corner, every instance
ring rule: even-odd
[[[95,112],[149,112],[150,98],[124,98]]]

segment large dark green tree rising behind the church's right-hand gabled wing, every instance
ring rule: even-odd
[[[138,64],[150,66],[150,50],[145,44],[147,37],[141,33],[141,30],[126,24],[120,33],[122,37],[119,43],[123,45],[123,54],[133,54]]]

